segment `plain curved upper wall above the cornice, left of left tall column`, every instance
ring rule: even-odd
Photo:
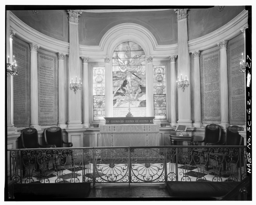
[[[12,10],[26,25],[46,36],[69,42],[69,20],[65,10]]]

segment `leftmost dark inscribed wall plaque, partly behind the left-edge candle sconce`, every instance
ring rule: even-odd
[[[13,55],[18,76],[13,77],[13,122],[15,127],[30,125],[30,49],[29,44],[13,37]]]

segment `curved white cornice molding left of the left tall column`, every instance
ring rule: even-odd
[[[10,12],[10,27],[15,30],[16,36],[21,37],[28,43],[36,42],[41,48],[53,52],[69,54],[69,43],[48,37],[31,28]]]

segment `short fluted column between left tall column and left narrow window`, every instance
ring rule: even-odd
[[[81,57],[83,60],[83,127],[90,127],[89,123],[89,84],[88,84],[88,57]]]

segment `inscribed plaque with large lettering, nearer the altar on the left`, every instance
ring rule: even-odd
[[[38,64],[38,123],[58,123],[57,55],[37,53]]]

